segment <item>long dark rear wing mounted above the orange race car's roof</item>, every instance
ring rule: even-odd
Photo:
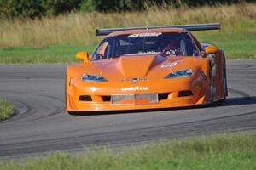
[[[174,26],[148,26],[148,27],[130,27],[130,28],[112,28],[112,29],[96,29],[96,36],[107,36],[114,31],[126,30],[149,30],[156,28],[181,28],[186,31],[205,31],[220,29],[219,23],[209,24],[193,24],[193,25],[174,25]]]

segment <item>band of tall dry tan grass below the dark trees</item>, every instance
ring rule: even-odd
[[[200,8],[155,7],[124,13],[71,13],[40,19],[0,19],[0,47],[45,46],[96,39],[97,28],[131,26],[170,26],[219,22],[224,34],[256,33],[256,3],[241,3]]]

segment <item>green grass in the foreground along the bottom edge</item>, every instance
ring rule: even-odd
[[[55,153],[17,163],[5,161],[4,170],[119,170],[119,169],[256,169],[256,135],[195,137],[146,144],[119,153],[90,150],[86,155]]]

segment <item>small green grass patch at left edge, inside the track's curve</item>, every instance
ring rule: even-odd
[[[3,121],[14,113],[14,107],[6,99],[0,99],[0,121]]]

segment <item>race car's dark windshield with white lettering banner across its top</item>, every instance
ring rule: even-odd
[[[104,38],[93,53],[91,60],[139,54],[196,56],[198,50],[186,32],[125,34]]]

